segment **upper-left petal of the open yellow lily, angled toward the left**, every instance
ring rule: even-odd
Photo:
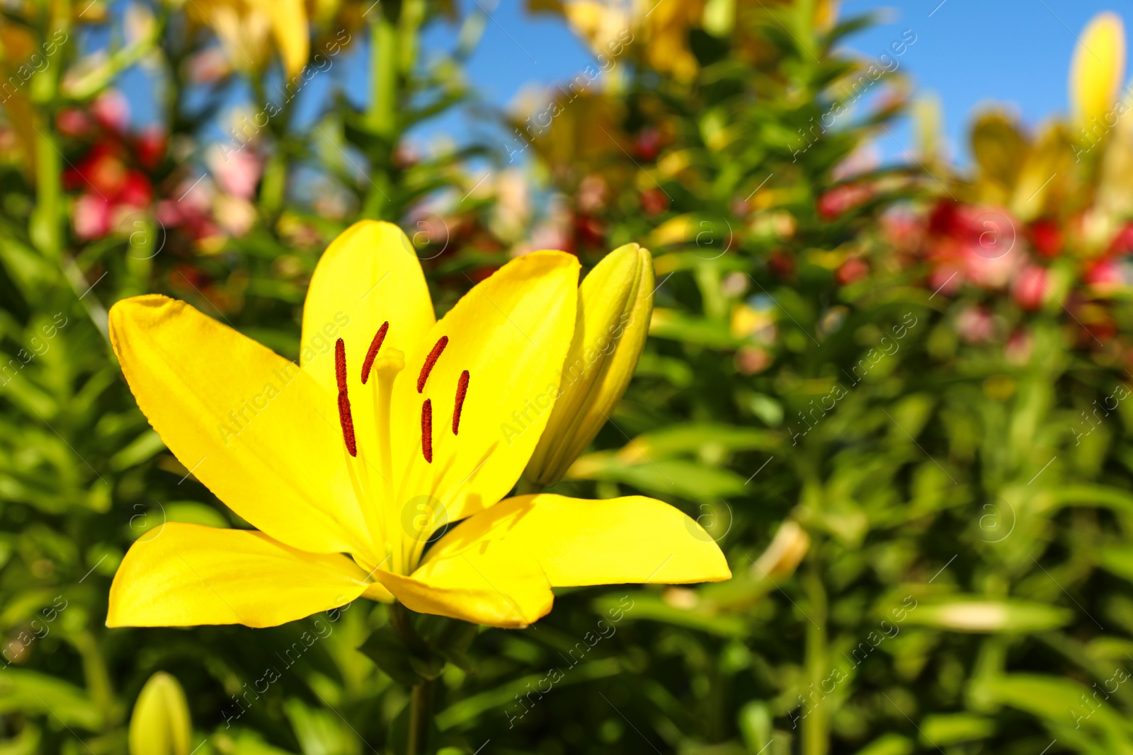
[[[110,338],[150,424],[229,508],[293,548],[376,563],[334,396],[309,375],[161,295],[114,304]]]

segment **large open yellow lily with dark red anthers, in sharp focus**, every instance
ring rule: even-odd
[[[301,367],[185,302],[117,303],[142,411],[256,530],[146,533],[107,625],[264,627],[366,597],[513,627],[547,614],[555,586],[729,578],[712,539],[658,500],[497,503],[546,424],[531,402],[557,392],[578,271],[564,252],[520,257],[436,320],[406,235],[357,223],[312,278]],[[508,438],[516,414],[530,424]]]

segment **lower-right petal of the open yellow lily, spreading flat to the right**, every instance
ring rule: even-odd
[[[732,576],[719,547],[681,511],[645,496],[585,500],[540,494],[501,501],[460,523],[429,550],[522,548],[554,587],[722,582]],[[501,583],[508,590],[508,583]]]

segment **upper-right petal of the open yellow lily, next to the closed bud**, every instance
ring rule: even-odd
[[[393,467],[408,471],[394,505],[433,497],[454,522],[508,494],[559,392],[574,331],[578,271],[578,259],[561,251],[511,260],[461,298],[406,359],[393,389]],[[421,368],[442,337],[448,343],[419,392]],[[468,391],[454,432],[465,370]],[[421,451],[426,398],[432,463]]]

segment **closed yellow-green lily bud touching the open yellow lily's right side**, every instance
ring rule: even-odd
[[[606,255],[582,281],[559,397],[523,472],[529,482],[556,482],[610,419],[645,346],[653,285],[653,256],[636,243]]]

